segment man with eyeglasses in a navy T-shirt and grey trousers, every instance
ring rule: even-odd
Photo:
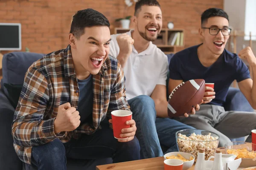
[[[256,129],[256,113],[225,111],[223,108],[228,88],[236,79],[241,92],[256,109],[256,83],[253,83],[247,66],[240,59],[247,60],[252,67],[253,79],[256,79],[256,58],[250,47],[241,50],[239,55],[224,49],[230,32],[227,13],[218,8],[207,9],[201,15],[199,28],[203,43],[176,53],[169,65],[169,92],[189,79],[214,83],[214,89],[206,87],[209,92],[205,92],[200,110],[189,118],[180,117],[177,120],[217,133],[220,136],[219,147]]]

